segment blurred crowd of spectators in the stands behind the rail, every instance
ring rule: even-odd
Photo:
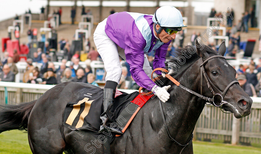
[[[181,9],[181,8],[180,8]],[[40,19],[44,20],[44,10],[45,8],[41,8]],[[182,10],[181,10],[182,11]],[[110,11],[111,14],[115,13],[112,9]],[[59,15],[59,22],[61,24],[61,15],[62,8],[59,10],[53,11],[53,14]],[[91,11],[85,11],[85,7],[82,6],[81,15],[91,15]],[[231,14],[234,15],[233,9],[231,9]],[[244,15],[242,15],[242,20],[238,22],[238,24],[233,23],[232,20],[227,20],[227,26],[231,26],[230,30],[227,30],[226,36],[229,37],[229,46],[227,46],[227,56],[235,56],[237,52],[240,51],[240,32],[248,31],[248,21],[251,19],[251,27],[254,26],[252,24],[252,14],[253,10],[251,10],[250,15],[246,11]],[[71,8],[71,18],[72,24],[74,23],[76,12],[74,7]],[[209,17],[219,16],[220,13],[217,13],[214,9],[211,10]],[[230,19],[230,18],[227,18]],[[86,21],[89,21],[89,18],[85,18]],[[254,23],[254,22],[253,22]],[[80,35],[80,34],[79,34]],[[194,42],[196,39],[200,37],[201,33],[193,31],[190,37],[190,43],[188,45],[195,46]],[[214,33],[214,35],[218,35],[218,33]],[[34,83],[34,84],[59,84],[66,81],[74,81],[74,82],[84,82],[93,84],[98,86],[95,82],[96,76],[95,73],[92,72],[92,68],[90,67],[90,62],[94,60],[101,60],[97,50],[94,46],[90,46],[89,39],[84,39],[84,54],[80,51],[74,51],[72,49],[71,42],[66,38],[61,38],[58,41],[58,51],[63,53],[63,59],[61,60],[62,64],[59,68],[55,68],[55,65],[51,61],[51,47],[49,42],[45,42],[43,48],[38,48],[37,51],[32,52],[32,39],[33,39],[33,31],[29,27],[27,31],[28,42],[22,43],[20,45],[20,53],[18,54],[16,50],[13,52],[13,56],[9,56],[7,52],[4,52],[4,58],[1,59],[0,62],[0,81],[15,81],[15,75],[18,73],[18,69],[16,67],[16,63],[19,61],[19,56],[26,56],[27,67],[23,74],[22,82],[24,83]],[[174,52],[177,48],[181,48],[184,46],[185,34],[184,30],[176,33],[176,38],[172,40],[170,46],[168,47],[167,56],[174,57]],[[200,39],[200,38],[199,38]],[[205,42],[206,45],[212,47],[214,50],[218,50],[218,42]],[[137,90],[139,86],[135,83],[130,73],[129,64],[121,59],[122,66],[122,76],[120,83],[118,84],[118,88],[120,89],[134,89]],[[153,59],[154,53],[151,52],[147,55],[149,60],[149,64],[153,69]],[[67,61],[70,61],[67,63]],[[79,62],[85,61],[85,67],[81,67]],[[33,65],[34,64],[34,65]],[[66,66],[67,64],[67,66]],[[69,64],[69,65],[68,65]],[[106,73],[106,72],[105,72]],[[106,74],[103,76],[103,80]],[[240,82],[240,86],[250,95],[250,96],[261,96],[261,60],[260,64],[255,65],[251,62],[250,65],[240,65],[240,68],[237,70],[237,79]]]

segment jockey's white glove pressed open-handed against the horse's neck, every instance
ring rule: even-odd
[[[171,86],[164,86],[164,87],[159,87],[157,85],[153,86],[152,88],[152,92],[158,96],[158,98],[162,101],[162,102],[166,102],[169,99],[169,93],[167,92],[167,90],[170,88]]]

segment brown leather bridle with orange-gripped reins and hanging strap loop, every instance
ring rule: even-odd
[[[194,94],[194,95],[200,97],[201,99],[204,99],[204,100],[208,101],[210,104],[212,104],[211,102],[213,102],[213,105],[216,106],[216,107],[220,107],[220,109],[221,109],[222,112],[224,112],[224,113],[230,113],[230,112],[225,112],[225,111],[222,110],[223,104],[227,104],[227,103],[228,103],[227,101],[224,101],[223,98],[224,98],[224,96],[225,96],[227,90],[228,90],[234,83],[238,83],[238,84],[239,84],[239,82],[236,81],[236,80],[235,80],[235,81],[232,81],[232,82],[230,82],[230,83],[227,85],[227,87],[224,89],[223,92],[220,91],[220,90],[212,83],[212,81],[209,79],[209,77],[208,77],[208,75],[207,75],[207,73],[205,72],[205,69],[204,69],[204,64],[206,64],[210,59],[214,59],[214,58],[223,58],[223,59],[226,60],[226,58],[225,58],[224,56],[221,56],[221,55],[215,55],[215,56],[209,57],[209,58],[206,59],[204,62],[203,62],[202,57],[200,58],[200,94],[196,93],[196,92],[193,91],[193,90],[190,90],[190,89],[186,88],[185,86],[182,86],[177,80],[175,80],[172,76],[170,76],[169,74],[167,74],[167,73],[168,73],[168,70],[166,70],[166,69],[164,69],[164,68],[156,68],[156,69],[153,70],[153,72],[151,73],[152,81],[154,81],[154,82],[155,82],[155,81],[158,81],[158,80],[159,80],[159,77],[161,77],[161,76],[159,76],[159,77],[153,78],[153,73],[154,73],[155,71],[162,71],[162,72],[166,73],[165,77],[167,77],[169,80],[171,80],[175,85],[177,85],[177,86],[181,87],[182,89],[184,89],[184,90],[190,92],[191,94]],[[165,64],[167,64],[167,63],[165,63]],[[212,98],[212,99],[209,98],[209,97],[206,97],[206,96],[203,96],[203,95],[202,95],[203,75],[204,75],[205,80],[207,81],[208,88],[211,90],[211,92],[212,92],[212,94],[213,94],[213,98]],[[213,87],[214,87],[214,89],[215,89],[217,92],[215,92],[215,90],[213,89]],[[152,92],[149,92],[149,93],[141,93],[141,89],[142,89],[142,88],[139,89],[139,92],[140,92],[141,95],[149,95],[149,94],[152,93]],[[217,96],[217,95],[219,95],[219,96],[221,97],[221,99],[222,99],[220,105],[216,105],[216,104],[214,103],[214,98],[215,98],[215,96]],[[207,104],[207,105],[210,105],[210,104],[208,104],[208,103],[206,103],[206,104]],[[182,150],[181,150],[181,152],[182,152],[183,149],[184,149],[187,145],[189,145],[189,144],[192,142],[193,134],[192,134],[192,136],[191,136],[190,141],[189,141],[188,143],[186,143],[185,145],[182,145],[182,144],[178,143],[175,139],[173,139],[173,138],[171,137],[171,135],[169,134],[169,131],[168,131],[168,128],[167,128],[167,123],[166,123],[166,120],[165,120],[165,116],[164,116],[164,113],[163,113],[162,104],[161,104],[161,101],[160,101],[160,100],[159,100],[159,105],[160,105],[160,110],[161,110],[161,114],[162,114],[162,117],[163,117],[163,122],[165,123],[166,129],[167,129],[167,134],[168,134],[169,138],[170,138],[172,141],[174,141],[177,145],[183,147]],[[180,153],[181,153],[181,152],[180,152]]]

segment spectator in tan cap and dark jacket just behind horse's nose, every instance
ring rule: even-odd
[[[251,83],[247,83],[244,74],[240,74],[236,79],[239,82],[240,87],[243,88],[247,95],[256,97],[254,86]]]

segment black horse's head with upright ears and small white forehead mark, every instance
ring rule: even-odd
[[[233,112],[236,118],[248,116],[251,112],[252,99],[236,82],[236,70],[227,63],[226,59],[218,57],[218,55],[224,56],[226,52],[225,42],[221,43],[218,53],[210,47],[204,46],[204,44],[199,44],[197,41],[196,46],[197,54],[202,58],[202,62],[204,63],[201,63],[200,68],[201,71],[202,67],[204,68],[203,75],[201,76],[203,78],[201,79],[203,80],[202,94],[210,98],[213,98],[213,95],[216,94],[214,102],[210,101],[210,103],[222,107],[226,111]],[[204,71],[206,76],[204,75]],[[207,84],[207,80],[209,80],[208,83],[210,86]],[[211,92],[211,87],[214,92]],[[221,96],[227,102],[222,106]]]

